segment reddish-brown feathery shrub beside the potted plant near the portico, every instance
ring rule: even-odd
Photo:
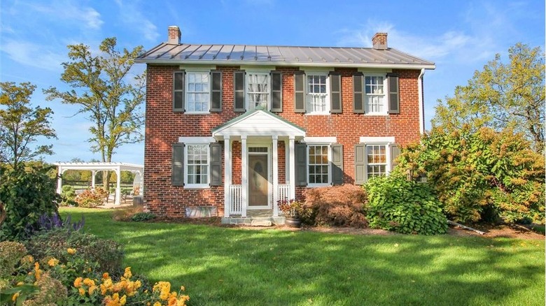
[[[318,225],[366,227],[366,202],[365,191],[353,185],[305,191],[305,203],[314,212],[311,222]]]

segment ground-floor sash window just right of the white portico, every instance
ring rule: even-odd
[[[307,175],[310,187],[330,184],[329,145],[307,145]]]

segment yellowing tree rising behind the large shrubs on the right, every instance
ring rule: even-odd
[[[464,124],[473,131],[486,126],[524,133],[536,152],[544,150],[545,58],[539,47],[517,43],[508,50],[510,63],[500,54],[475,71],[466,86],[458,86],[453,97],[439,100],[433,126],[454,130]]]

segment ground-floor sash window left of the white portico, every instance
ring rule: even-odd
[[[186,187],[209,187],[209,144],[186,144],[184,153]]]

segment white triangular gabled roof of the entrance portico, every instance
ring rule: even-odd
[[[272,112],[258,109],[217,126],[212,130],[212,136],[217,139],[221,136],[304,137],[305,130]]]

